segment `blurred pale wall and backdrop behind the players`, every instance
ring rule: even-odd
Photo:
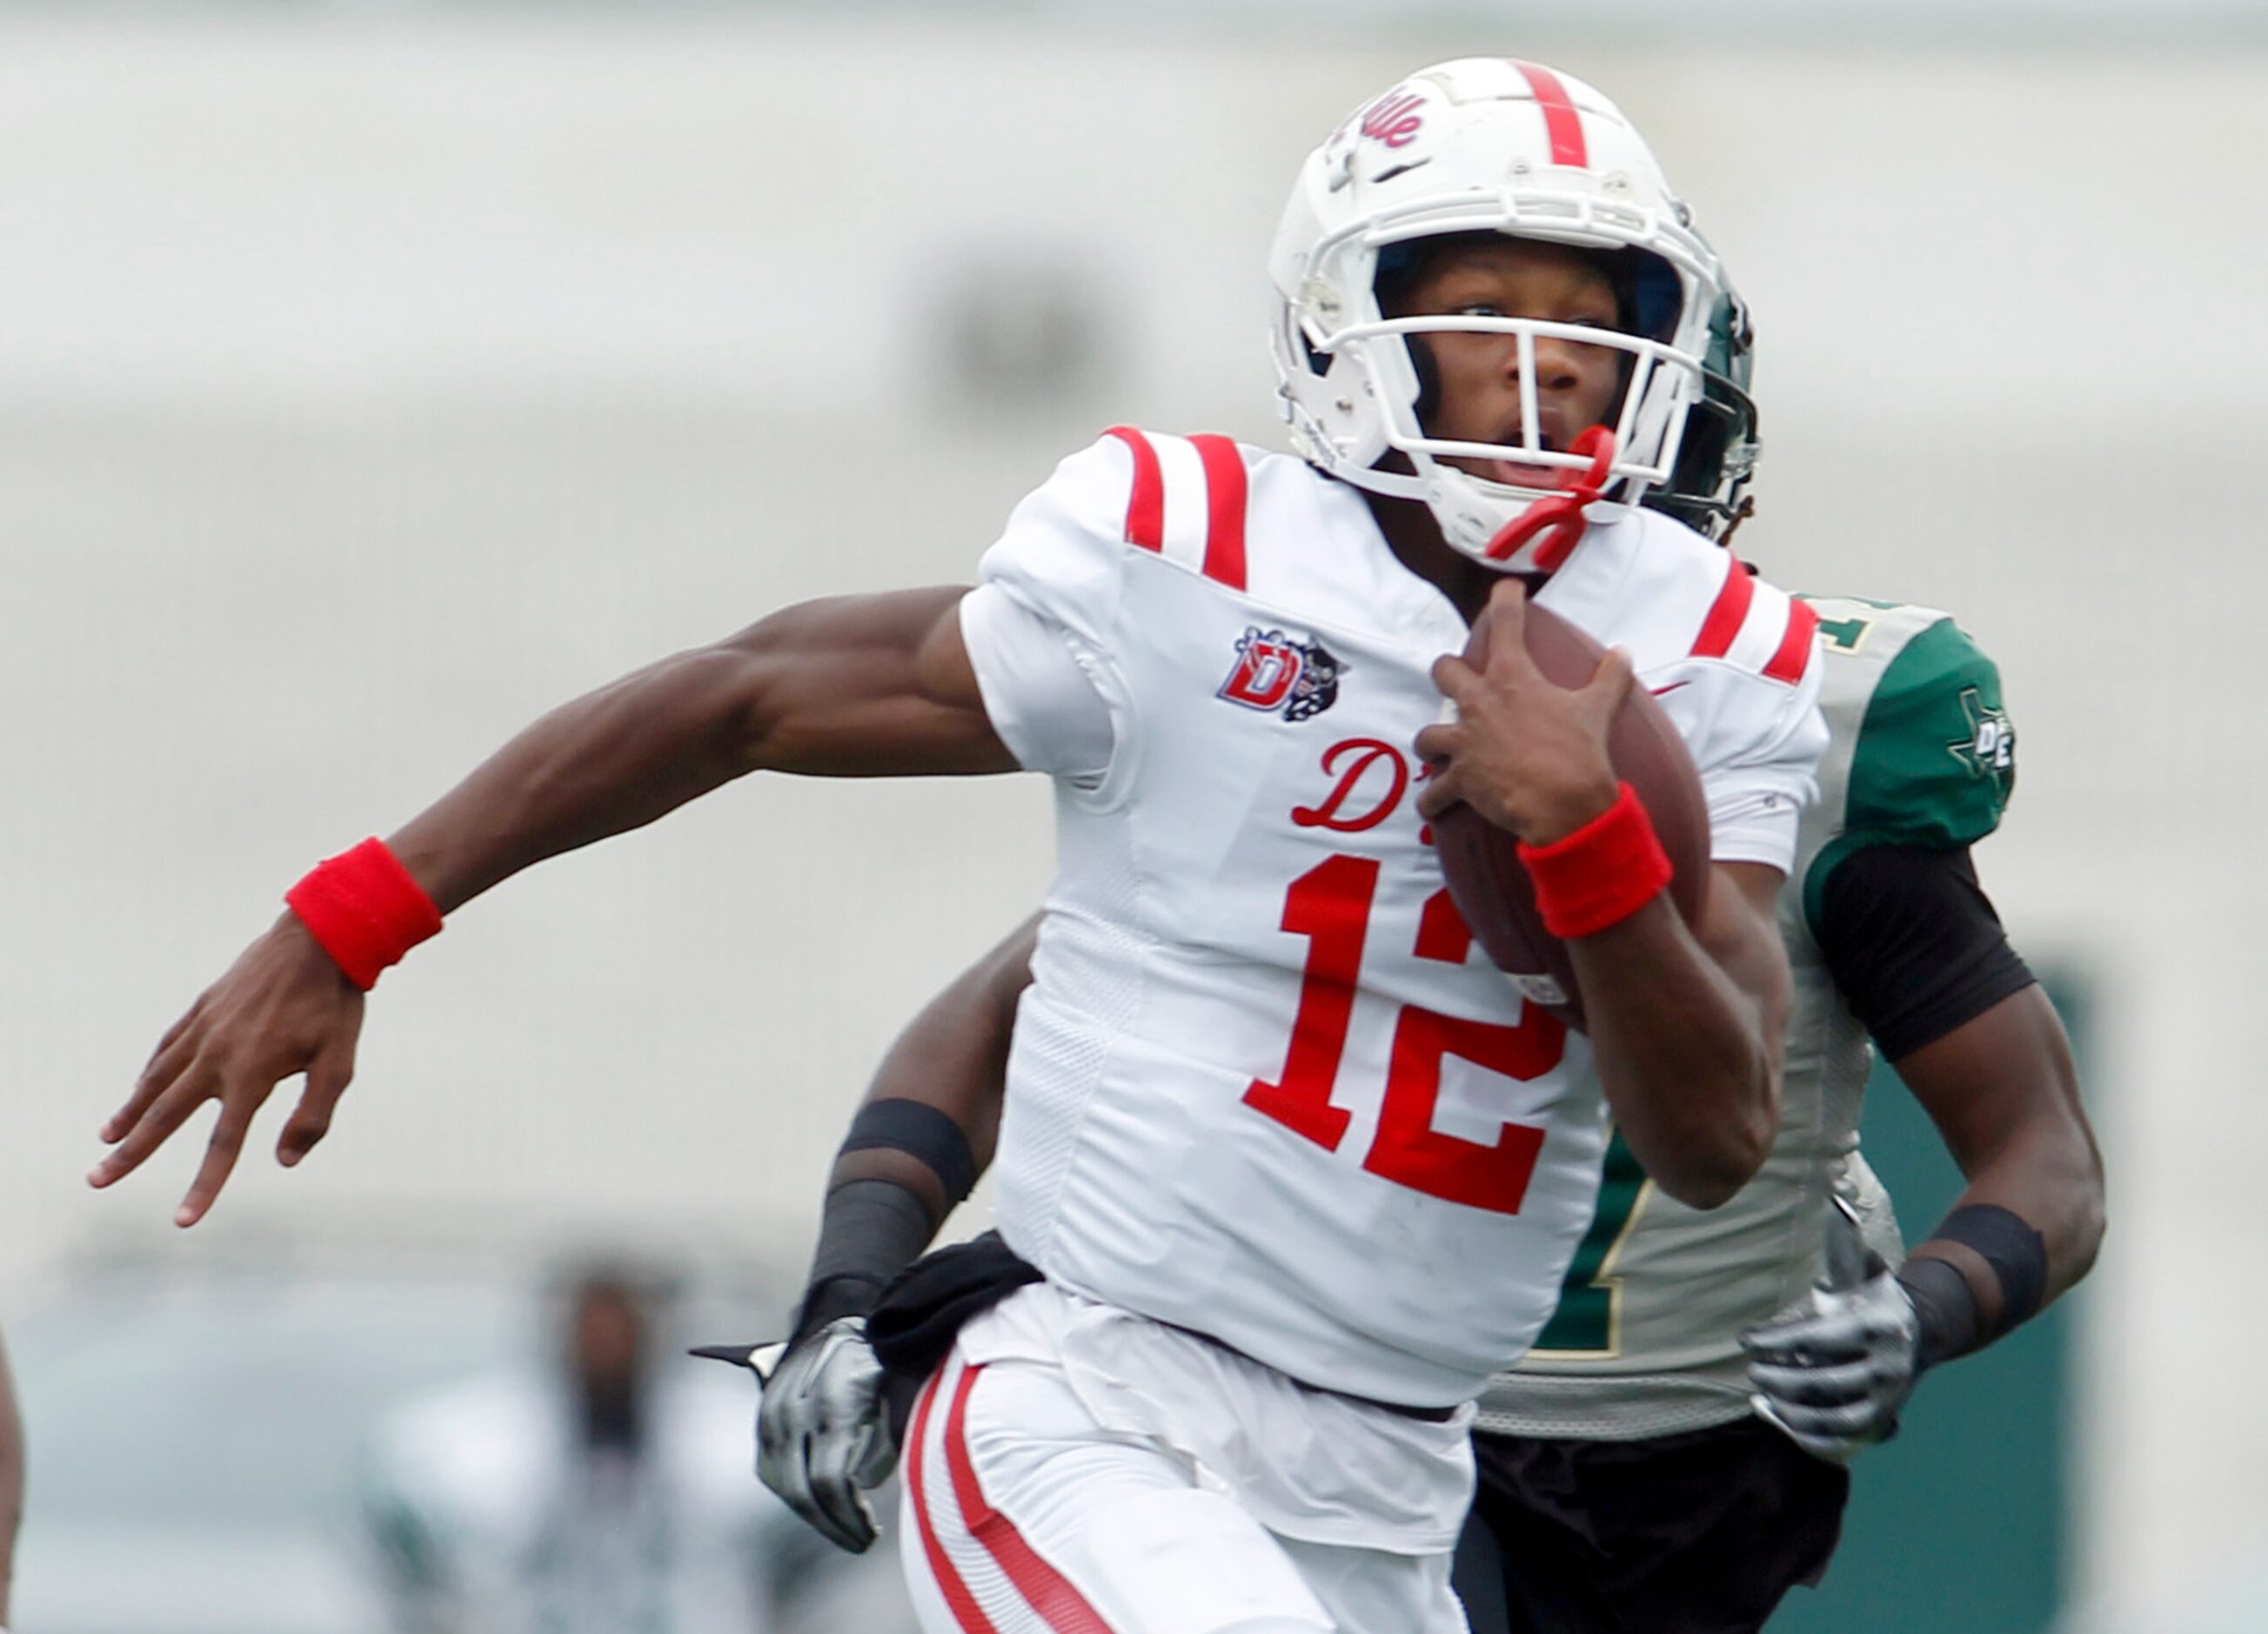
[[[744,1418],[662,1357],[776,1330],[887,1039],[1046,883],[1032,778],[742,785],[476,903],[388,976],[331,1142],[249,1151],[195,1232],[200,1142],[95,1196],[95,1126],[304,867],[542,708],[968,579],[1105,424],[1279,445],[1297,161],[1465,52],[1615,95],[1753,304],[1742,554],[2000,660],[1980,867],[2109,1160],[2093,1280],[1926,1387],[1789,1627],[2268,1625],[2263,744],[2204,704],[2268,604],[2268,7],[184,0],[0,5],[18,1634],[404,1625],[390,1448],[556,1389],[592,1255]],[[1926,1230],[1928,1135],[1882,1142]],[[894,1634],[746,1502],[778,1627]]]

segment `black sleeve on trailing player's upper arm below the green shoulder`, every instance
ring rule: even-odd
[[[1851,1014],[1894,1062],[2032,985],[1966,847],[1853,851],[1828,876],[1814,935]]]

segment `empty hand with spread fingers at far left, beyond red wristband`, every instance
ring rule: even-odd
[[[172,1216],[175,1226],[195,1226],[227,1185],[252,1114],[286,1078],[306,1073],[306,1089],[277,1142],[277,1162],[295,1164],[322,1139],[354,1078],[361,1030],[363,989],[286,915],[159,1039],[134,1094],[102,1126],[116,1151],[95,1164],[88,1185],[134,1173],[191,1112],[218,1101],[204,1164]]]

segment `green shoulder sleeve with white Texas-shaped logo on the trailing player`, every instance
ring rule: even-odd
[[[1857,717],[1842,833],[1803,878],[1805,917],[1835,865],[1876,844],[1950,851],[2000,826],[2016,787],[2016,731],[2000,669],[1950,617],[1921,629],[1882,669]]]

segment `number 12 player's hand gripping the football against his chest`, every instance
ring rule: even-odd
[[[1554,685],[1529,656],[1526,608],[1526,590],[1506,579],[1481,615],[1486,667],[1454,656],[1433,665],[1456,719],[1417,733],[1417,753],[1436,767],[1417,810],[1431,819],[1465,801],[1529,844],[1551,844],[1615,803],[1606,731],[1631,694],[1633,672],[1617,647],[1583,688]]]

